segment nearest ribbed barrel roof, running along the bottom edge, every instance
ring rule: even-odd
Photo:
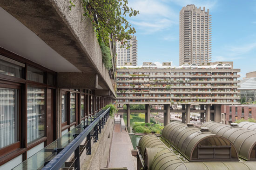
[[[147,145],[148,140],[152,142],[151,139],[162,143],[155,135],[146,135],[141,138],[139,146]],[[154,147],[145,148],[148,155],[143,157],[146,170],[255,170],[256,167],[256,162],[183,162],[163,143]]]

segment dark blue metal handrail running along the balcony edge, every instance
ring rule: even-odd
[[[59,154],[57,154],[56,157],[54,157],[49,163],[47,163],[45,165],[45,167],[42,168],[42,170],[59,170],[61,168],[61,166],[63,164],[65,164],[67,159],[74,152],[75,152],[75,157],[79,158],[79,145],[81,145],[81,143],[83,142],[83,140],[86,137],[89,137],[89,140],[91,140],[90,139],[90,135],[91,135],[90,132],[95,127],[96,127],[97,132],[98,132],[98,123],[101,121],[101,119],[104,116],[105,116],[104,118],[106,118],[106,116],[109,115],[109,110],[110,110],[110,107],[107,110],[105,110],[103,113],[98,114],[98,115],[96,114],[95,116],[98,116],[98,117],[96,119],[94,119],[94,121],[91,122],[88,126],[85,126],[85,129],[77,137],[75,137],[75,139],[70,144],[68,144]],[[105,124],[105,120],[103,120],[103,121],[104,121],[104,124]],[[100,122],[99,126],[101,126],[101,122]],[[78,152],[78,156],[76,154],[77,152]],[[76,167],[78,167],[77,170],[80,170],[80,161],[79,161],[79,159],[74,161],[74,164],[75,164]]]

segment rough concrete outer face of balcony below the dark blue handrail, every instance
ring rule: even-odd
[[[99,170],[101,168],[101,163],[106,159],[109,159],[108,156],[104,156],[104,151],[109,151],[109,147],[111,147],[111,142],[108,142],[108,139],[111,139],[113,129],[114,119],[109,117],[107,124],[104,126],[104,129],[101,129],[99,140],[92,146],[92,154],[87,155],[86,158],[81,161],[81,170]]]

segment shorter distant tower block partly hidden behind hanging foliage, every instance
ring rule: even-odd
[[[137,65],[137,39],[136,36],[132,36],[130,40],[128,40],[127,44],[131,45],[130,48],[126,49],[126,45],[121,47],[121,42],[117,41],[115,44],[116,54],[117,54],[117,64],[116,65]]]

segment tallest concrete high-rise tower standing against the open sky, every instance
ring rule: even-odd
[[[180,66],[211,62],[211,15],[205,7],[187,5],[180,11]]]

